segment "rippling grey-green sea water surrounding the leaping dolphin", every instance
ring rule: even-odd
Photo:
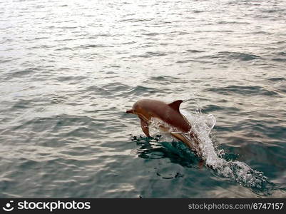
[[[0,1],[0,197],[285,198],[286,1]],[[183,99],[204,165],[126,110]]]

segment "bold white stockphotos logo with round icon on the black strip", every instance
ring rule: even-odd
[[[91,209],[90,202],[76,202],[75,200],[63,202],[61,200],[52,201],[52,202],[43,202],[43,201],[29,201],[23,200],[14,203],[14,200],[10,200],[2,209],[6,212],[10,212],[14,209],[17,210],[89,210]]]

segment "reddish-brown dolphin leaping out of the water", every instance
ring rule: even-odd
[[[160,131],[170,133],[174,138],[183,141],[188,148],[202,157],[198,137],[191,131],[192,126],[188,120],[180,113],[180,103],[183,101],[167,104],[163,101],[142,99],[134,103],[126,113],[136,114],[140,118],[142,131],[147,137],[150,137],[149,124],[153,119],[158,119],[161,122],[158,126]]]

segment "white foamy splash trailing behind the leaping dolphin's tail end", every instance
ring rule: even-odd
[[[253,170],[246,163],[240,161],[225,161],[218,156],[218,150],[215,149],[213,141],[210,138],[210,132],[215,126],[215,116],[203,113],[190,114],[187,111],[181,111],[183,116],[188,119],[192,128],[191,131],[196,133],[200,141],[200,149],[203,152],[201,157],[205,165],[213,170],[215,175],[223,178],[236,180],[240,185],[262,190],[270,182],[262,172]],[[153,122],[153,127],[158,125]],[[165,137],[164,137],[165,140]]]

